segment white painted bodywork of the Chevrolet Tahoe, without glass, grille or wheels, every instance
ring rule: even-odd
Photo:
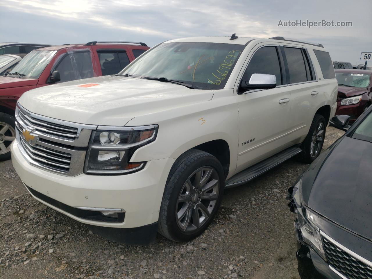
[[[196,37],[166,43],[216,42],[244,45],[251,38],[229,39]],[[237,88],[250,57],[257,48],[267,45],[307,48],[317,73],[317,81],[238,95]],[[31,90],[23,94],[19,102],[33,113],[104,126],[158,124],[158,134],[154,142],[135,151],[131,161],[147,161],[147,164],[143,170],[133,174],[80,174],[76,177],[52,174],[26,163],[16,144],[12,145],[13,164],[27,185],[68,205],[123,208],[127,212],[123,224],[87,221],[67,214],[80,222],[119,227],[151,224],[158,220],[172,164],[190,148],[213,140],[227,142],[230,152],[229,178],[286,147],[302,142],[316,110],[321,106],[329,105],[331,117],[334,115],[337,107],[337,81],[323,79],[312,49],[325,51],[324,48],[302,43],[254,39],[241,52],[225,88],[214,91],[110,76]],[[99,85],[79,87],[88,83]],[[311,95],[314,91],[319,93]],[[282,99],[289,99],[289,102],[279,103]],[[254,142],[241,145],[253,138]],[[48,185],[49,193],[46,193],[45,185]],[[89,199],[85,199],[85,196],[89,196]]]

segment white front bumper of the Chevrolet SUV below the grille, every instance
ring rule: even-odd
[[[11,152],[17,174],[30,189],[73,208],[124,209],[125,218],[123,222],[84,219],[31,193],[36,200],[84,224],[111,228],[138,228],[158,221],[167,176],[175,161],[172,158],[149,161],[143,170],[126,175],[83,173],[67,177],[31,166],[20,153],[16,140]]]

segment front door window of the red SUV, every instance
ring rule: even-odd
[[[94,77],[90,51],[69,52],[62,55],[53,71],[59,71],[61,81]]]

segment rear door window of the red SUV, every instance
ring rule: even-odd
[[[125,50],[98,49],[97,54],[103,76],[118,74],[130,63]]]

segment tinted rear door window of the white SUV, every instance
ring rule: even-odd
[[[308,61],[304,59],[301,48],[284,47],[288,64],[289,83],[300,83],[311,80]]]

